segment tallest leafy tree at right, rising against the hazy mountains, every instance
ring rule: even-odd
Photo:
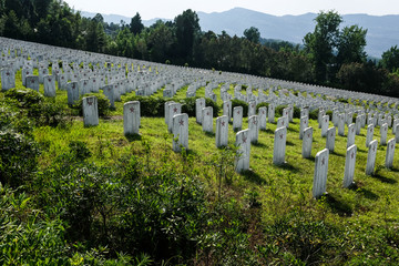
[[[315,19],[315,31],[304,38],[306,50],[311,54],[316,81],[328,81],[328,69],[334,63],[334,52],[339,39],[342,18],[335,11],[320,12]]]

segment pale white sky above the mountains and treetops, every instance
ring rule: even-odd
[[[399,14],[399,0],[64,0],[64,2],[76,11],[121,14],[130,18],[139,12],[143,20],[173,19],[186,9],[209,13],[236,7],[275,16],[318,13],[320,10],[331,9],[339,14]]]

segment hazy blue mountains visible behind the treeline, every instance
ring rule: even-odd
[[[242,37],[245,29],[256,27],[264,39],[284,40],[303,44],[306,33],[315,29],[316,13],[300,16],[272,16],[244,8],[234,8],[224,12],[197,12],[201,29],[215,33],[226,31],[229,35]],[[92,18],[95,13],[82,12],[83,17]],[[131,18],[117,14],[102,14],[104,21],[130,23]],[[392,45],[399,45],[399,16],[344,14],[345,25],[358,24],[367,29],[366,52],[369,57],[380,58],[382,52]],[[152,25],[157,19],[143,20],[143,24]],[[162,19],[166,21],[166,19]]]

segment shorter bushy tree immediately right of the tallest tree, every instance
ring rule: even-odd
[[[345,27],[338,41],[337,64],[339,69],[345,63],[360,63],[366,62],[366,34],[358,25]]]

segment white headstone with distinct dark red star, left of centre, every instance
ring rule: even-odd
[[[175,114],[172,117],[173,151],[181,152],[182,147],[188,150],[188,115]]]

